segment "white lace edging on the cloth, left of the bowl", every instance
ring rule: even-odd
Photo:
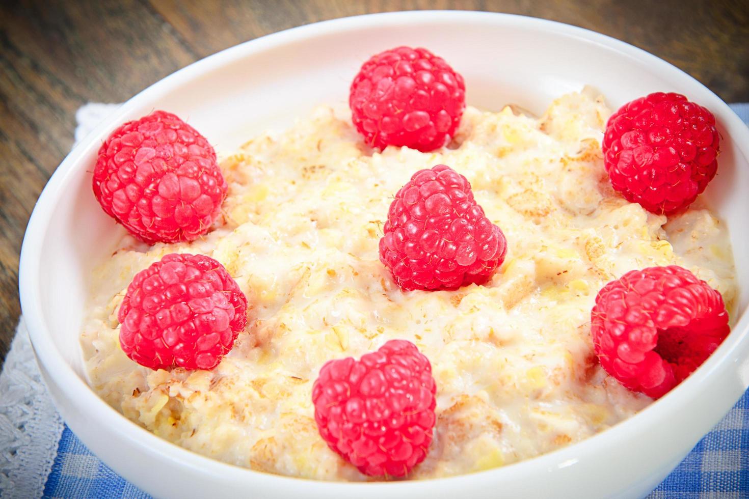
[[[76,112],[76,142],[118,104],[91,103]],[[23,319],[0,374],[0,496],[40,498],[52,471],[63,423],[44,385]]]

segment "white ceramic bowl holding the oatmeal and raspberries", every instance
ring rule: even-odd
[[[336,19],[252,40],[192,64],[133,97],[55,171],[28,224],[20,266],[23,313],[44,379],[73,432],[118,473],[159,497],[517,497],[645,495],[721,419],[749,385],[749,314],[682,385],[580,444],[515,465],[440,480],[328,483],[262,474],[157,438],[100,400],[85,381],[79,331],[87,276],[122,233],[91,194],[101,142],[120,123],[163,108],[231,151],[253,132],[285,126],[317,104],[341,102],[369,55],[426,46],[463,74],[467,100],[543,111],[593,85],[612,108],[652,91],[679,91],[711,109],[723,135],[706,196],[730,227],[749,299],[749,130],[715,94],[676,67],[612,38],[540,19],[476,12],[405,12]]]

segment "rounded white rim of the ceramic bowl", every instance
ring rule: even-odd
[[[590,438],[586,438],[568,447],[542,454],[541,456],[473,474],[435,478],[426,481],[409,480],[401,482],[357,483],[309,480],[267,474],[211,459],[180,447],[177,444],[172,444],[128,420],[123,414],[116,411],[104,402],[103,399],[100,399],[88,383],[84,379],[81,379],[73,368],[67,364],[60,352],[54,347],[52,334],[50,334],[52,328],[49,328],[43,319],[43,307],[40,293],[38,292],[38,287],[42,282],[38,263],[41,258],[41,243],[46,235],[50,217],[55,209],[57,200],[64,194],[64,190],[61,187],[70,182],[71,177],[77,173],[79,168],[83,168],[80,165],[81,156],[91,147],[94,147],[97,138],[103,137],[107,132],[114,129],[115,126],[118,126],[123,117],[130,112],[130,109],[136,108],[141,102],[150,100],[159,94],[164,94],[169,89],[180,85],[181,82],[210,72],[210,70],[222,67],[225,64],[230,64],[231,61],[244,58],[252,53],[262,52],[322,34],[340,34],[360,28],[371,28],[383,22],[389,25],[407,25],[414,22],[414,20],[416,22],[432,22],[437,24],[458,20],[461,22],[484,22],[491,25],[512,25],[513,27],[525,28],[529,31],[540,31],[547,34],[560,35],[561,37],[583,40],[587,43],[604,46],[607,49],[619,52],[620,55],[634,59],[640,63],[654,64],[662,71],[672,74],[678,72],[680,73],[680,78],[687,79],[692,85],[699,85],[706,92],[705,97],[710,100],[711,111],[720,117],[724,129],[730,131],[730,136],[736,147],[745,157],[749,158],[749,129],[723,100],[700,82],[697,82],[692,76],[643,49],[631,46],[613,37],[589,31],[585,28],[567,25],[562,22],[530,16],[518,16],[515,14],[470,10],[411,10],[330,19],[267,34],[254,40],[248,40],[189,64],[187,67],[175,71],[175,73],[150,85],[130,98],[130,100],[127,100],[127,102],[124,102],[103,123],[100,123],[94,131],[73,147],[54,174],[52,174],[43,192],[41,192],[36,206],[34,206],[34,211],[31,214],[22,242],[19,263],[19,294],[23,316],[28,326],[37,362],[43,371],[47,370],[54,376],[53,380],[46,379],[46,382],[53,382],[64,397],[75,401],[76,406],[87,408],[90,420],[96,421],[104,431],[118,432],[133,442],[133,446],[143,455],[155,458],[169,456],[169,459],[173,462],[177,462],[181,466],[186,466],[190,470],[195,471],[196,474],[213,477],[226,477],[228,475],[233,480],[246,482],[258,479],[278,480],[279,482],[285,482],[285,486],[287,487],[297,486],[297,490],[300,492],[311,492],[312,489],[310,488],[318,487],[324,487],[325,490],[330,491],[331,487],[335,487],[335,492],[338,493],[357,493],[362,492],[363,487],[377,489],[381,492],[395,492],[395,489],[405,492],[405,489],[421,487],[425,482],[444,483],[446,480],[449,480],[453,485],[458,485],[461,481],[467,483],[470,480],[475,486],[477,482],[486,484],[497,483],[509,478],[513,474],[526,474],[529,471],[533,471],[533,469],[548,468],[551,470],[577,465],[577,463],[584,461],[584,459],[590,459],[591,457],[595,459],[595,453],[592,453],[595,450],[593,449],[594,446],[601,447],[606,444],[607,447],[613,448],[613,446],[631,438],[631,435],[637,435],[646,431],[649,426],[652,426],[653,421],[667,422],[670,420],[670,416],[673,417],[673,414],[678,414],[679,411],[688,411],[691,403],[694,402],[694,393],[696,392],[695,388],[697,388],[697,385],[706,382],[712,376],[715,376],[717,379],[721,376],[721,373],[723,377],[728,376],[728,364],[738,365],[742,358],[746,358],[749,355],[749,313],[747,313],[747,309],[738,314],[739,320],[736,322],[732,334],[730,334],[727,340],[724,341],[720,348],[714,352],[699,370],[693,373],[685,382],[682,382],[679,387],[659,400],[658,403],[649,405],[627,420],[616,424],[610,429],[592,435]],[[747,308],[749,309],[749,307]],[[734,367],[734,369],[737,369],[737,367]],[[740,386],[746,389],[748,385],[749,373],[745,373],[745,376],[740,376],[735,391],[738,391]]]

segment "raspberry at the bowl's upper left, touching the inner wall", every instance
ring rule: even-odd
[[[94,168],[101,207],[148,244],[192,241],[206,233],[226,190],[213,147],[165,111],[112,132]]]

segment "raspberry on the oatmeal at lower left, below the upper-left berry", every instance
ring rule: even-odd
[[[118,320],[128,357],[151,369],[213,369],[247,322],[247,299],[201,254],[167,254],[138,272]]]

